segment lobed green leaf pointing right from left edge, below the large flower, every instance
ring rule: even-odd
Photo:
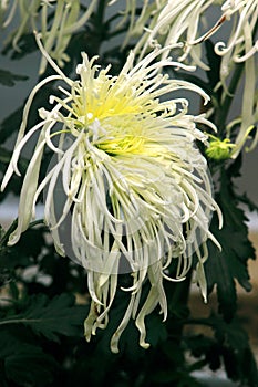
[[[33,294],[20,314],[1,320],[0,325],[22,324],[54,342],[60,341],[60,335],[80,336],[87,311],[74,305],[74,301],[71,294],[60,294],[52,300],[41,293]]]

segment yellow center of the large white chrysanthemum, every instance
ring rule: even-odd
[[[91,82],[89,76],[73,90],[70,108],[73,118],[69,121],[78,129],[86,129],[92,144],[111,156],[158,156],[159,144],[153,142],[151,147],[146,145],[146,140],[149,140],[149,123],[152,126],[156,117],[155,109],[151,113],[149,107],[155,107],[158,102],[151,100],[147,93],[144,97],[135,94],[135,87],[128,80],[117,82],[116,77],[106,75],[106,70],[100,71],[99,76]]]

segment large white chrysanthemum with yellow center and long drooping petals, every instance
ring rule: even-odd
[[[178,64],[171,59],[155,62],[161,54],[162,50],[155,50],[134,65],[131,53],[118,76],[111,76],[109,66],[101,69],[95,57],[89,60],[83,53],[78,81],[68,79],[48,57],[58,75],[45,79],[31,93],[1,187],[4,189],[13,171],[19,174],[20,153],[38,133],[21,189],[18,227],[9,244],[29,227],[44,190],[44,219],[56,250],[71,254],[87,270],[92,304],[85,320],[86,339],[107,324],[120,271],[132,273],[132,285],[124,289],[131,301],[112,337],[113,352],[118,351],[118,338],[131,317],[140,330],[140,344],[148,347],[144,318],[158,305],[166,318],[163,280],[169,279],[172,262],[177,263],[173,280],[182,281],[196,252],[197,282],[206,297],[206,240],[217,243],[208,228],[211,212],[219,210],[206,159],[195,146],[196,139],[206,142],[198,124],[213,125],[203,115],[189,115],[185,98],[163,101],[182,88],[200,94],[205,102],[208,97],[190,83],[163,75],[163,67]],[[40,109],[40,123],[24,134],[35,92],[58,79],[66,83],[66,88],[60,87],[64,97],[51,96],[52,111]],[[56,159],[39,182],[45,147]],[[138,310],[147,280],[151,290]]]

